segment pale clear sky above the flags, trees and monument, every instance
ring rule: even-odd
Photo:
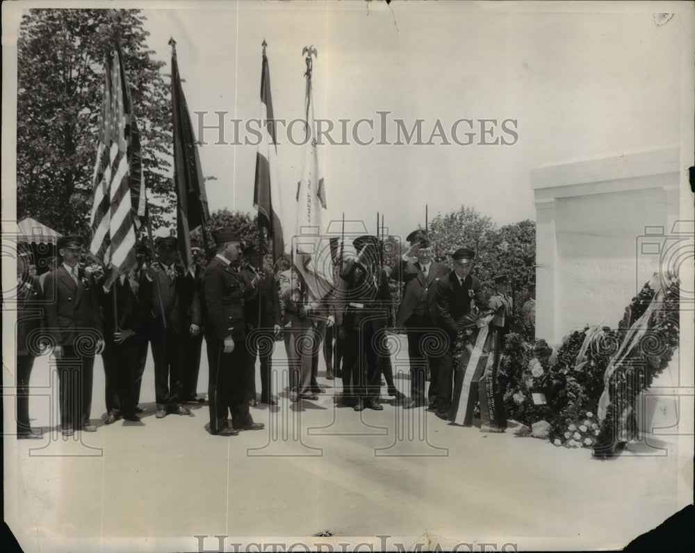
[[[142,7],[111,2],[110,6]],[[318,148],[327,191],[327,220],[363,220],[374,233],[377,212],[386,232],[404,236],[461,205],[497,224],[535,218],[530,170],[544,164],[600,158],[679,142],[681,31],[677,13],[657,25],[639,3],[463,3],[416,1],[147,3],[148,46],[170,72],[170,37],[177,41],[197,131],[225,112],[224,140],[240,120],[240,145],[198,137],[211,211],[253,211],[256,140],[244,132],[259,117],[261,42],[268,42],[275,117],[301,119],[305,63],[313,45],[313,101],[318,119],[334,124],[341,142]],[[163,8],[163,9],[160,9]],[[665,10],[665,8],[664,8]],[[168,80],[168,76],[165,77]],[[377,112],[388,112],[380,133]],[[374,130],[368,122],[373,120]],[[422,120],[422,142],[396,142],[401,119]],[[460,119],[453,141],[452,125]],[[481,122],[491,119],[495,122]],[[505,132],[502,122],[507,120]],[[512,122],[513,121],[513,122]],[[300,123],[300,122],[298,122]],[[328,123],[327,123],[328,124]],[[356,127],[357,125],[357,127]],[[257,128],[257,125],[256,127]],[[360,145],[373,138],[371,145]],[[484,134],[482,129],[489,129]],[[300,142],[302,125],[293,125]],[[284,226],[294,226],[294,196],[304,147],[279,133],[277,174]],[[448,140],[450,144],[442,142]],[[508,145],[480,142],[505,140]],[[328,141],[326,141],[328,142]],[[286,240],[287,241],[287,240]]]

